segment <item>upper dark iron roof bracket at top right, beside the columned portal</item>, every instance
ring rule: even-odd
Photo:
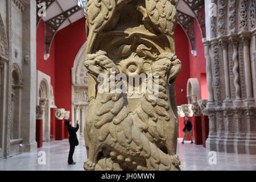
[[[205,32],[205,7],[204,0],[183,0],[196,16],[197,23],[199,23],[201,35],[206,38]]]

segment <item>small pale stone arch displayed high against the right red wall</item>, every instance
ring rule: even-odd
[[[187,82],[188,104],[197,103],[201,100],[200,84],[197,78],[189,78]]]

